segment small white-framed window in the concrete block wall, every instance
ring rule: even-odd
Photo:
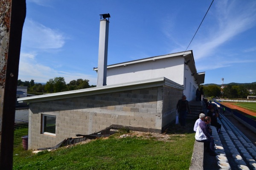
[[[42,133],[47,135],[56,135],[56,116],[42,115]]]

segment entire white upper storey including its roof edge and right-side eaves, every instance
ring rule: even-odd
[[[183,94],[193,100],[198,85],[204,83],[204,75],[197,73],[192,51],[185,51],[108,65],[107,85],[165,77],[183,85]]]

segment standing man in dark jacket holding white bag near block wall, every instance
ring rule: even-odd
[[[186,96],[183,95],[176,105],[177,111],[180,116],[180,125],[185,126],[187,112],[190,112],[189,101],[186,100]]]

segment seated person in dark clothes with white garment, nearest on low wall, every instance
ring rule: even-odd
[[[214,152],[214,140],[210,135],[207,125],[211,122],[211,117],[206,116],[204,121],[200,122],[195,132],[195,140],[207,144],[207,152],[211,156],[216,156]]]

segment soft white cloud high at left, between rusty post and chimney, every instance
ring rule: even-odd
[[[58,49],[64,46],[63,33],[43,26],[32,20],[26,20],[23,27],[22,46],[38,50]]]

